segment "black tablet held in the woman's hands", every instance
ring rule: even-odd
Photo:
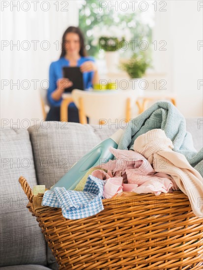
[[[65,93],[70,93],[73,89],[84,90],[83,73],[80,67],[63,67],[63,78],[73,82],[73,86],[65,88]]]

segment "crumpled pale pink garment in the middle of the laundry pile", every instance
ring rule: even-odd
[[[134,191],[138,194],[154,193],[159,195],[161,192],[178,190],[173,178],[166,173],[156,173],[143,155],[133,150],[120,150],[113,147],[110,147],[109,150],[116,157],[116,160],[95,166],[95,168],[107,170],[107,173],[100,170],[92,172],[93,176],[103,180],[111,178],[105,184],[105,186],[107,183],[108,185],[104,186],[107,196],[110,194],[113,196],[117,191],[121,192],[120,186],[122,186],[123,191]],[[118,182],[118,177],[122,177],[122,183]]]

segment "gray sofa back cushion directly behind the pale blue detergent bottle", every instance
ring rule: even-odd
[[[39,185],[50,189],[72,167],[101,140],[115,130],[108,126],[79,123],[46,122],[29,128],[35,168]]]

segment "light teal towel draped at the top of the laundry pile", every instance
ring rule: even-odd
[[[171,103],[158,101],[128,123],[118,149],[133,150],[135,139],[149,130],[162,129],[174,144],[174,151],[183,154],[187,161],[203,176],[203,148],[197,152],[192,135],[186,131],[184,116]]]

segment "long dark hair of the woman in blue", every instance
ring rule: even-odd
[[[70,26],[68,27],[63,36],[62,36],[62,44],[61,44],[61,54],[60,54],[60,58],[61,57],[64,57],[65,54],[66,54],[66,50],[65,50],[65,36],[67,35],[67,33],[76,33],[79,35],[79,38],[80,38],[80,52],[79,54],[81,56],[87,56],[87,52],[86,52],[86,49],[85,49],[85,39],[84,39],[84,36],[83,36],[83,33],[81,31],[81,29],[79,27],[74,27],[74,26]]]

